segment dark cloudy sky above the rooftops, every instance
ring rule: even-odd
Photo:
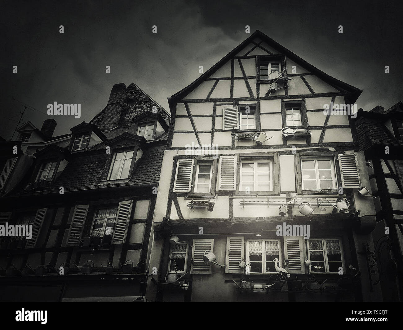
[[[359,108],[389,108],[403,101],[403,5],[332,3],[2,1],[0,135],[11,138],[24,109],[19,102],[38,110],[27,109],[23,120],[39,129],[48,118],[47,104],[81,104],[81,118],[55,118],[55,135],[70,133],[102,110],[112,85],[122,82],[136,83],[169,112],[167,98],[195,80],[200,65],[206,71],[246,39],[245,25],[364,89]]]

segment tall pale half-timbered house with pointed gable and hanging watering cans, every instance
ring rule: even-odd
[[[256,31],[169,98],[147,299],[380,301],[363,251],[376,224],[358,194],[370,186],[364,153],[354,120],[323,111],[360,93]],[[309,239],[276,235],[283,223],[310,226]],[[225,266],[206,264],[208,251]],[[185,276],[168,284],[168,271]],[[253,292],[233,283],[243,278]]]

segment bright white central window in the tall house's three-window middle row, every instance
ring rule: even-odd
[[[272,191],[273,162],[256,160],[241,162],[240,191]]]

